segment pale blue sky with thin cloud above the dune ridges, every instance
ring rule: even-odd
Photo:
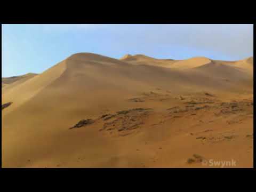
[[[2,25],[2,77],[42,73],[78,52],[239,60],[253,55],[253,25]]]

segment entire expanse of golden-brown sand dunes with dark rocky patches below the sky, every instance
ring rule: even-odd
[[[2,78],[2,166],[252,167],[253,58],[77,53]]]

